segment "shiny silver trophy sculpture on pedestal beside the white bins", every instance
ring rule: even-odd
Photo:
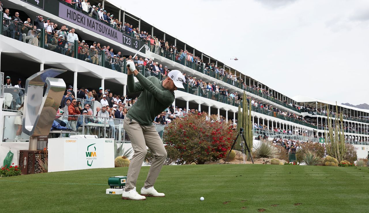
[[[64,80],[54,77],[63,72],[45,69],[26,80],[22,130],[30,135],[28,150],[37,150],[37,136],[49,135],[65,91]]]

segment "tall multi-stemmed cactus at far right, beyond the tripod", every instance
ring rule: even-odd
[[[345,134],[343,128],[343,115],[338,113],[336,102],[336,116],[334,118],[334,126],[332,126],[332,116],[330,116],[329,109],[327,107],[327,122],[328,132],[325,131],[325,148],[327,153],[336,158],[338,162],[344,160],[346,153]],[[340,122],[341,121],[341,124]]]

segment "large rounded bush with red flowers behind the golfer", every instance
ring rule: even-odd
[[[236,132],[228,123],[207,113],[189,114],[165,127],[164,142],[179,151],[177,164],[197,162],[204,164],[225,157],[232,146]]]

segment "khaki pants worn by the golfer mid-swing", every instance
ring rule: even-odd
[[[138,174],[146,156],[146,146],[149,147],[155,159],[150,166],[144,187],[149,188],[154,186],[166,159],[166,150],[163,141],[155,130],[154,125],[141,126],[137,121],[127,116],[124,118],[123,128],[131,139],[134,151],[130,167],[128,168],[127,183],[125,184],[124,190],[129,191],[136,186]]]

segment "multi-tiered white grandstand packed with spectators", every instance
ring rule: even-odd
[[[24,100],[27,78],[49,68],[63,69],[67,88],[56,120],[74,134],[96,134],[129,142],[122,118],[138,93],[127,91],[128,59],[144,76],[162,80],[170,70],[183,72],[184,89],[159,114],[154,124],[162,134],[166,124],[188,113],[216,114],[235,125],[238,105],[252,105],[254,136],[322,142],[327,115],[343,112],[346,142],[369,145],[369,110],[311,97],[288,97],[261,81],[218,61],[114,6],[108,0],[2,0],[0,72],[3,142],[28,141],[15,125]],[[149,49],[142,48],[148,45]],[[139,53],[132,58],[135,53]],[[260,79],[262,80],[262,79]],[[247,99],[243,99],[243,93]],[[72,98],[78,112],[68,114]],[[107,107],[102,109],[103,105]],[[85,117],[79,114],[87,115]],[[61,121],[61,122],[60,122]],[[6,127],[6,128],[5,128]],[[56,134],[56,133],[54,133]],[[62,134],[62,133],[61,133]],[[260,137],[259,137],[260,138]]]

